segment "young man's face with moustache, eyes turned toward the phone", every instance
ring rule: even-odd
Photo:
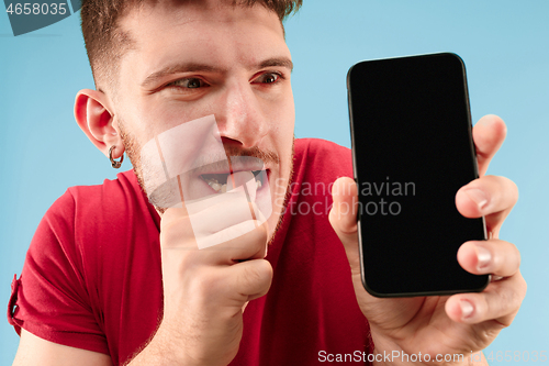
[[[213,114],[228,155],[264,157],[272,230],[292,169],[294,127],[291,55],[277,14],[259,4],[160,1],[132,10],[120,24],[136,45],[121,60],[115,117],[138,175],[144,144]],[[191,177],[199,195],[211,189],[203,178]]]

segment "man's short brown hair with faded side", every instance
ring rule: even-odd
[[[120,29],[119,19],[130,9],[145,2],[156,3],[158,0],[82,0],[80,18],[83,41],[98,89],[103,82],[114,87],[120,59],[135,42],[127,32]],[[262,4],[276,12],[281,22],[292,12],[296,12],[302,4],[302,0],[229,0],[228,2],[234,7]]]

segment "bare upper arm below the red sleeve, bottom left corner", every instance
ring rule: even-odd
[[[23,329],[13,366],[34,365],[112,366],[112,362],[111,357],[105,354],[53,343]]]

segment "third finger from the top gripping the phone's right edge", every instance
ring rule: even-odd
[[[474,275],[508,277],[518,273],[520,252],[514,244],[501,240],[467,242],[458,251],[458,262]]]

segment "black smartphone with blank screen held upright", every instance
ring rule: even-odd
[[[462,59],[452,53],[356,64],[347,76],[362,284],[376,297],[482,291],[458,263],[485,240],[456,193],[479,177]]]

